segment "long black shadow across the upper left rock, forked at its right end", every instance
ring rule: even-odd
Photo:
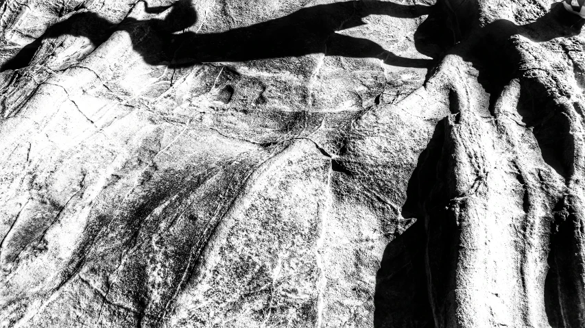
[[[292,14],[257,23],[248,27],[230,29],[221,33],[197,34],[192,31],[176,34],[191,27],[197,14],[191,1],[180,0],[171,7],[145,7],[147,13],[170,10],[165,19],[139,21],[126,18],[114,25],[92,12],[73,14],[52,25],[45,34],[24,47],[0,71],[23,68],[34,58],[42,40],[68,34],[84,36],[93,45],[104,42],[113,32],[132,31],[136,27],[149,28],[156,42],[140,45],[140,38],[132,38],[134,50],[148,64],[166,64],[173,67],[191,66],[206,62],[242,62],[270,58],[286,58],[324,53],[350,58],[378,58],[386,64],[427,68],[432,60],[404,58],[387,51],[381,45],[365,38],[337,34],[337,31],[365,24],[362,18],[383,14],[401,18],[415,18],[429,14],[426,5],[400,5],[387,1],[346,1],[302,8]],[[132,33],[130,33],[132,36]]]

